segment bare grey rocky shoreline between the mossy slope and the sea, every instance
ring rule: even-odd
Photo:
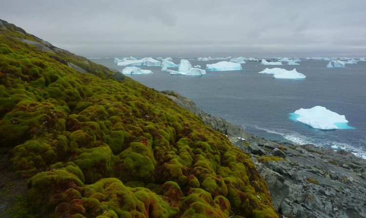
[[[270,141],[213,117],[174,91],[165,96],[251,155],[285,218],[366,218],[366,160],[312,144]]]

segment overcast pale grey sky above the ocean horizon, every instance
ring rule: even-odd
[[[1,0],[0,19],[86,57],[366,57],[366,0]]]

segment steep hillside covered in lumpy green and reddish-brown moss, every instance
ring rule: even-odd
[[[31,177],[40,216],[277,217],[264,179],[224,135],[132,79],[9,29],[0,146]]]

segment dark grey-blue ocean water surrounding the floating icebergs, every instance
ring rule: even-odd
[[[301,60],[297,66],[246,61],[241,71],[207,71],[204,76],[176,76],[160,67],[141,67],[154,74],[130,77],[159,91],[177,91],[207,113],[266,139],[333,146],[366,158],[366,61],[346,64],[346,68],[326,68],[325,60]],[[113,59],[93,61],[120,71],[124,68]],[[204,69],[207,63],[220,60],[189,61]],[[272,74],[258,74],[266,67],[296,68],[306,79],[273,79]],[[354,129],[317,130],[289,119],[289,113],[317,105],[345,115]]]

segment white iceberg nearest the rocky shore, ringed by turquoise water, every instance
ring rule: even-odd
[[[335,123],[347,123],[344,115],[339,115],[322,106],[315,106],[310,109],[301,108],[294,112],[300,116],[296,118],[299,122],[309,125],[315,129],[331,130],[338,129]]]

